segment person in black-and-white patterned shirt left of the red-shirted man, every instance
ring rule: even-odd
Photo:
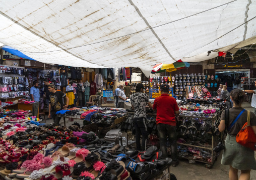
[[[152,104],[149,102],[149,97],[143,93],[143,84],[137,84],[136,93],[132,94],[130,99],[134,113],[134,126],[136,130],[136,147],[137,150],[145,151],[147,145],[147,125],[146,125],[146,105],[152,108]],[[141,135],[142,135],[142,148],[141,148]]]

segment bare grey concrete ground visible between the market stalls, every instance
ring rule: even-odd
[[[244,103],[243,107],[246,110],[252,111],[249,103]],[[46,117],[47,118],[47,117]],[[76,122],[83,126],[83,120],[76,119]],[[71,122],[66,118],[66,125],[69,126],[75,121]],[[46,120],[46,124],[53,122],[52,119]],[[60,120],[60,124],[63,125],[63,120]],[[223,152],[223,151],[222,151]],[[220,163],[222,152],[214,162],[213,167],[208,169],[204,163],[196,162],[189,163],[187,159],[182,159],[177,167],[171,167],[171,172],[175,174],[178,180],[189,179],[189,180],[217,180],[217,179],[228,179],[229,166],[222,165]],[[255,153],[256,158],[256,153]],[[256,170],[251,170],[250,179],[256,179]]]

